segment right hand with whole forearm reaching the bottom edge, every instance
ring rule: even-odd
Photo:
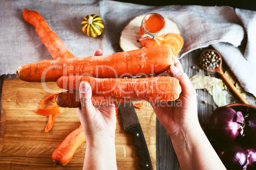
[[[170,73],[180,81],[180,97],[153,110],[171,137],[181,169],[225,169],[199,124],[196,91],[177,58]]]

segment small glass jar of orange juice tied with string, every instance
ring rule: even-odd
[[[139,29],[139,43],[143,47],[160,46],[164,40],[166,21],[159,13],[146,15]]]

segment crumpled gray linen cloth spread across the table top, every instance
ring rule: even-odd
[[[34,27],[22,18],[22,10],[38,11],[76,57],[120,52],[125,25],[137,15],[157,12],[178,24],[185,44],[178,57],[212,45],[236,75],[241,86],[256,96],[256,11],[229,6],[144,6],[116,1],[7,1],[0,7],[0,74],[13,74],[18,66],[52,59]],[[103,36],[83,34],[83,17],[103,18]]]

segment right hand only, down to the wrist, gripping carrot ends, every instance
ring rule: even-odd
[[[197,97],[190,80],[183,72],[180,61],[175,57],[174,65],[170,67],[171,76],[180,81],[181,94],[176,101],[152,104],[159,122],[171,136],[180,129],[190,129],[199,124],[197,118]]]

